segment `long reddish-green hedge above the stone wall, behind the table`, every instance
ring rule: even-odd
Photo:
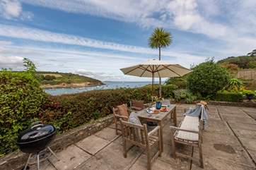
[[[163,85],[163,97],[172,97],[176,88],[175,85]],[[158,87],[155,90],[157,92]],[[49,99],[50,102],[40,118],[47,123],[53,123],[61,133],[92,119],[112,114],[112,107],[129,104],[131,99],[151,102],[151,87],[93,90],[75,95],[51,96]]]

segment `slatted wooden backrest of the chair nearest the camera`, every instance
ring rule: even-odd
[[[121,120],[122,137],[139,147],[146,147],[149,144],[146,124],[143,126]]]

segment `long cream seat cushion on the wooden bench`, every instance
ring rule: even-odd
[[[185,116],[185,119],[182,121],[180,128],[185,130],[194,130],[199,131],[199,118],[194,116]],[[178,140],[191,140],[198,141],[197,133],[190,133],[179,130],[175,135],[175,139]]]

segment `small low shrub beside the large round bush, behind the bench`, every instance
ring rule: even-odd
[[[186,103],[192,103],[199,98],[197,97],[197,95],[193,95],[192,92],[189,92],[188,90],[184,89],[174,90],[173,95],[176,102],[185,100]]]

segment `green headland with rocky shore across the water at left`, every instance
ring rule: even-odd
[[[38,71],[37,78],[41,81],[41,86],[44,88],[103,85],[100,80],[73,73]]]

